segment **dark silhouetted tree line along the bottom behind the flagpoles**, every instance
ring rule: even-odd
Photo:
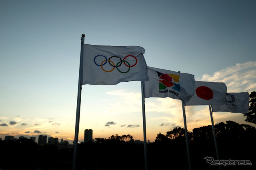
[[[252,166],[222,166],[222,170],[255,169],[256,129],[233,121],[215,125],[222,160],[250,160]],[[218,170],[205,157],[216,158],[212,127],[194,128],[188,132],[192,169]],[[72,149],[56,145],[38,146],[32,140],[18,139],[0,142],[2,170],[71,170]],[[188,169],[184,128],[174,128],[157,134],[155,142],[147,144],[148,169]],[[96,138],[96,142],[78,144],[78,170],[144,170],[144,145],[136,144],[130,134]]]

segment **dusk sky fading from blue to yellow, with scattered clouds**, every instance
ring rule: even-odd
[[[136,45],[150,67],[256,91],[253,0],[0,0],[0,138],[39,134],[74,140],[80,38],[93,45]],[[147,98],[146,136],[184,127],[182,103]],[[213,113],[214,124],[246,123]],[[186,106],[188,131],[211,125],[208,106]],[[79,141],[130,134],[143,140],[140,81],[83,85]]]

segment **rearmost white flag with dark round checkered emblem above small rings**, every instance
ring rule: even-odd
[[[227,93],[224,105],[212,105],[212,111],[249,113],[249,93]]]

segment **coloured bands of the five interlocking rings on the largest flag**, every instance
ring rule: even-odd
[[[97,64],[96,61],[95,61],[96,57],[99,57],[99,56],[102,56],[102,57],[105,58],[105,60],[103,60],[103,61],[101,62],[101,64]],[[120,59],[120,61],[118,61],[118,63],[117,63],[116,65],[114,64],[113,61],[110,60],[110,59],[112,59],[113,57],[116,57],[116,58],[119,58],[119,59]],[[134,56],[133,56],[133,55],[126,55],[126,56],[124,57],[124,59],[122,60],[120,57],[117,57],[117,56],[112,56],[112,57],[110,57],[109,59],[107,59],[107,57],[105,57],[104,55],[96,55],[96,56],[94,57],[94,63],[95,63],[97,66],[100,66],[103,71],[108,72],[108,73],[111,72],[111,71],[113,71],[113,70],[115,69],[115,67],[116,67],[116,69],[117,69],[120,73],[128,73],[128,72],[130,71],[130,67],[134,67],[134,66],[137,64],[138,60],[137,60],[136,57],[134,57],[134,59],[136,60],[136,61],[135,61],[135,64],[134,64],[134,65],[130,65],[130,63],[125,60],[127,57],[134,57]],[[103,67],[102,67],[102,66],[105,65],[107,62],[113,67],[113,69],[111,69],[110,71],[107,71],[107,70],[103,69]],[[126,66],[128,67],[128,70],[125,71],[125,72],[120,71],[120,69],[118,69],[118,67],[120,67],[120,66],[122,65],[122,63],[124,63],[124,65],[126,65]]]

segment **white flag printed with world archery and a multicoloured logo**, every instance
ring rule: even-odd
[[[188,101],[194,94],[194,75],[148,67],[149,81],[144,82],[144,94],[149,97],[170,97]]]

